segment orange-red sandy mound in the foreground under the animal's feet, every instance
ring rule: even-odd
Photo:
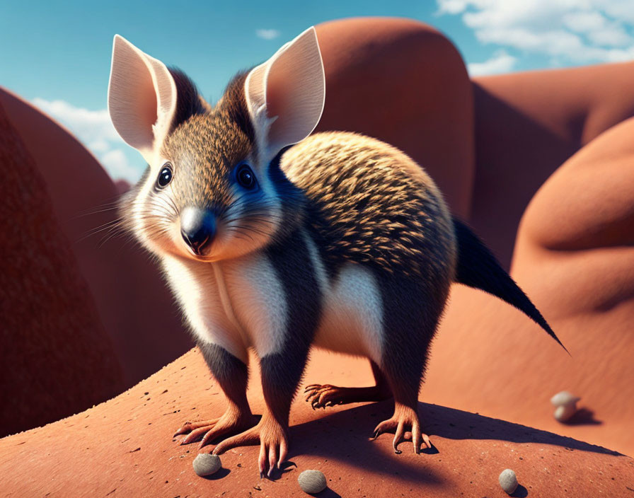
[[[259,447],[221,456],[216,477],[197,477],[197,444],[172,439],[185,420],[219,416],[224,396],[194,350],[138,386],[98,407],[40,429],[0,440],[6,496],[306,496],[302,470],[321,470],[323,497],[504,497],[497,476],[512,468],[524,490],[514,496],[629,496],[634,461],[626,456],[459,410],[422,405],[422,423],[438,453],[415,455],[405,442],[395,455],[392,436],[369,436],[391,415],[390,403],[313,411],[298,398],[291,417],[289,460],[276,481],[260,480]],[[257,369],[249,391],[255,413],[262,393]],[[316,352],[305,383],[369,385],[361,361]],[[211,451],[213,446],[206,446]]]

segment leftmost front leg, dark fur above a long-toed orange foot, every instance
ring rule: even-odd
[[[224,415],[216,419],[200,422],[185,422],[175,435],[189,434],[180,441],[188,444],[200,439],[200,447],[207,442],[229,432],[237,432],[253,427],[255,417],[251,413],[246,388],[248,383],[248,368],[243,361],[234,357],[223,347],[209,342],[198,342],[198,347],[209,369],[212,371],[228,402]]]

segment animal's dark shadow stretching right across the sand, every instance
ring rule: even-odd
[[[379,446],[378,441],[370,439],[376,424],[390,417],[392,412],[393,403],[383,401],[340,410],[295,425],[291,427],[293,446],[289,457],[318,455],[344,461],[366,472],[391,477],[398,475],[400,479],[415,485],[442,485],[444,479],[434,471],[433,465],[427,463],[431,461],[424,459],[425,453],[439,453],[442,456],[442,448],[434,446],[415,456],[411,442],[404,441],[399,446],[403,453],[398,458],[386,458],[386,445]],[[621,456],[621,453],[601,446],[452,408],[419,403],[419,412],[422,430],[432,437],[432,444],[434,436],[445,439],[497,439],[514,443],[551,444],[569,450]],[[391,451],[393,435],[382,434],[379,436],[381,438],[389,441],[388,451]],[[518,488],[512,496],[523,497],[526,494]]]

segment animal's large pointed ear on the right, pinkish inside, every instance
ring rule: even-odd
[[[244,86],[258,147],[268,159],[308,137],[321,118],[325,100],[315,28],[307,29],[252,69]]]

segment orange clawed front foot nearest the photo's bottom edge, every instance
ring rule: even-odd
[[[258,425],[247,431],[221,441],[214,448],[214,455],[236,448],[260,443],[258,466],[260,478],[271,477],[273,470],[279,469],[288,455],[288,431],[272,417],[263,417]],[[268,471],[267,471],[268,469]]]

